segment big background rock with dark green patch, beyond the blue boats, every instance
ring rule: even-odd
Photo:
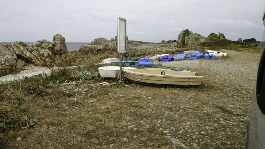
[[[188,29],[180,32],[177,41],[178,43],[182,43],[186,45],[198,45],[199,43],[206,42],[204,36],[198,33],[192,33]]]

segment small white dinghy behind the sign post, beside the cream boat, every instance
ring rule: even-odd
[[[135,67],[122,67],[122,69],[137,69]],[[101,77],[104,78],[118,78],[120,73],[120,66],[104,66],[99,67],[98,71]]]

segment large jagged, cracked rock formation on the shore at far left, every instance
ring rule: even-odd
[[[0,44],[0,76],[20,72],[28,63],[46,67],[76,65],[75,58],[69,58],[65,38],[59,34],[52,43],[43,39],[28,45],[21,41]]]

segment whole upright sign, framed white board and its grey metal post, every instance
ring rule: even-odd
[[[126,52],[126,19],[117,18],[118,52],[120,53],[120,80],[122,80],[122,53]]]

